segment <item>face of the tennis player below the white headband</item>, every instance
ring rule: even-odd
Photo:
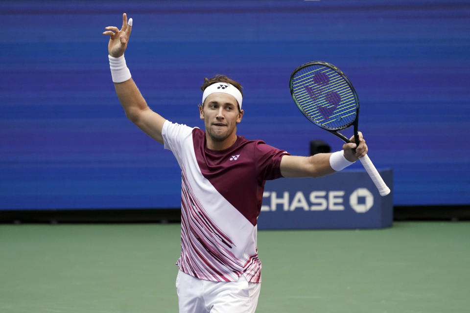
[[[215,142],[221,142],[235,135],[236,124],[241,121],[243,110],[238,111],[234,96],[228,93],[210,94],[202,107],[199,107],[201,119],[204,120],[206,133]]]

